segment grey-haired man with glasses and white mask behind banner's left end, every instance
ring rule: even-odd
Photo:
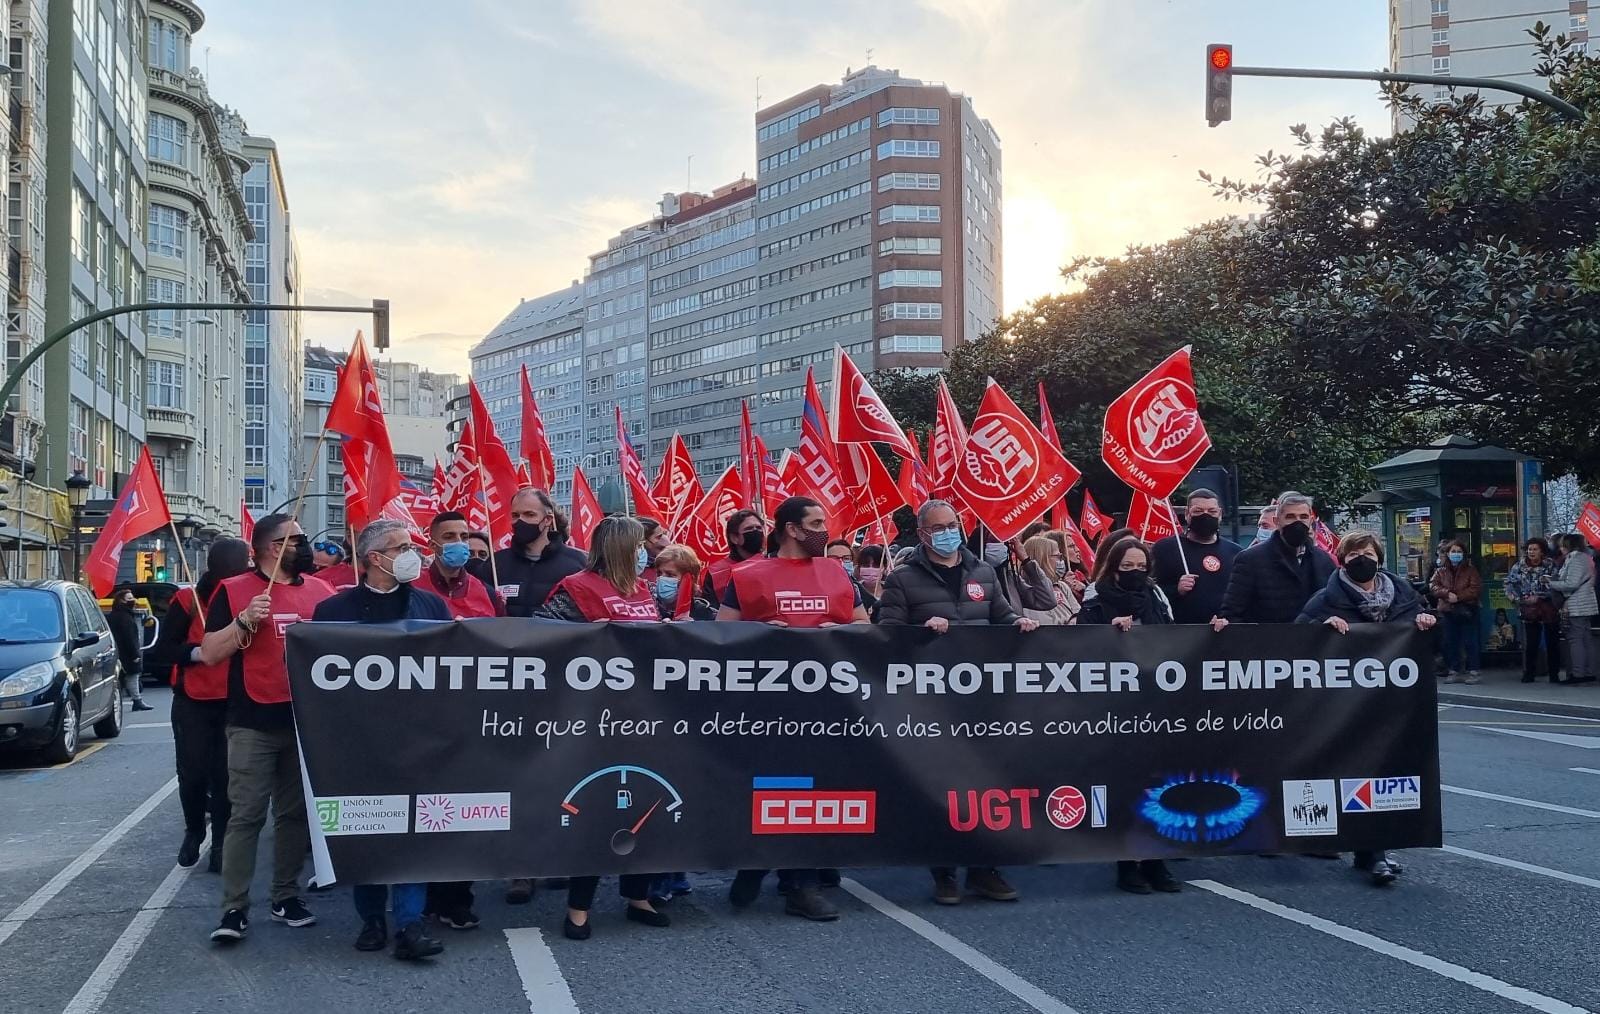
[[[362,561],[362,584],[322,601],[312,619],[355,624],[451,619],[443,598],[411,584],[422,574],[422,553],[411,542],[411,533],[403,521],[394,518],[373,521],[357,536],[355,552]],[[427,936],[422,928],[427,884],[355,884],[352,896],[355,912],[362,916],[362,934],[355,937],[355,950],[382,950],[389,944],[386,907],[394,908],[397,958],[418,961],[445,950],[445,945]]]

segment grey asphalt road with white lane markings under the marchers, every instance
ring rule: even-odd
[[[1234,857],[1174,864],[1176,896],[1042,867],[1010,872],[1018,904],[941,908],[922,870],[854,870],[843,918],[810,924],[770,886],[734,913],[706,873],[670,929],[626,923],[603,884],[574,944],[562,896],[507,907],[480,888],[483,924],[437,929],[446,952],[418,966],[352,948],[346,888],[307,896],[312,928],[258,904],[243,945],[213,947],[218,878],[173,865],[166,696],[147,697],[69,766],[0,757],[0,1009],[1600,1011],[1600,710],[1443,705],[1446,849],[1406,852],[1387,891],[1347,862]]]

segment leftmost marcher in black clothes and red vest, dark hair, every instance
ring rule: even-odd
[[[173,747],[178,752],[178,800],[184,808],[184,843],[178,865],[200,860],[205,819],[211,814],[213,873],[222,872],[227,833],[227,665],[200,662],[205,614],[219,584],[250,569],[250,544],[222,537],[211,544],[205,574],[192,589],[178,589],[166,606],[162,633],[149,662],[173,670]]]

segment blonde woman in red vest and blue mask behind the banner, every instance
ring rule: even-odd
[[[534,616],[579,624],[661,622],[656,593],[640,579],[650,558],[645,553],[645,526],[634,518],[605,518],[589,539],[589,561],[576,574],[562,577],[550,589]],[[627,918],[645,926],[670,926],[666,912],[650,904],[650,873],[624,873],[622,897]],[[587,940],[589,908],[594,907],[598,876],[573,876],[566,888],[566,921],[562,932],[570,940]]]

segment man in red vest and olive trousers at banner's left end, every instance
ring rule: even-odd
[[[272,920],[310,926],[299,899],[299,872],[310,848],[301,787],[283,632],[310,619],[333,595],[312,577],[310,542],[299,521],[272,513],[251,537],[256,568],[229,577],[211,595],[200,664],[227,664],[227,833],[222,836],[222,921],[211,939],[237,942],[250,929],[250,881],[256,846],[272,806]]]

